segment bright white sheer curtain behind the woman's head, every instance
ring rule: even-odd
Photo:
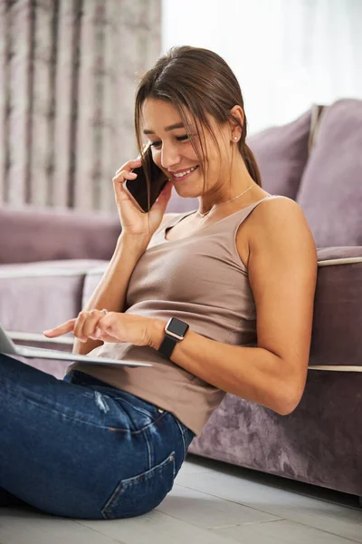
[[[250,134],[313,103],[362,98],[361,27],[362,0],[163,0],[162,53],[188,44],[223,56]]]

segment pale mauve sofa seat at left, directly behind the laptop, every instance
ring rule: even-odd
[[[79,314],[86,275],[107,265],[107,261],[85,259],[0,265],[0,324],[15,344],[71,352],[71,333],[51,339],[43,330]],[[20,360],[57,378],[70,365],[69,361]]]

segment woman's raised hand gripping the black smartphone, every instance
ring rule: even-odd
[[[133,174],[131,170],[140,166],[140,159],[125,162],[117,170],[113,178],[113,188],[119,211],[122,235],[140,236],[150,239],[164,217],[168,200],[171,197],[172,183],[171,181],[167,182],[166,187],[162,190],[148,213],[140,211],[129,196],[129,191],[123,187],[125,180],[136,180],[136,174]]]

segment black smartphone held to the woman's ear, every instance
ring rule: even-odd
[[[148,187],[145,170],[148,169],[150,181],[150,202],[149,209],[155,204],[160,192],[167,184],[168,178],[165,172],[157,167],[152,159],[151,144],[148,142],[142,151],[142,156],[138,156],[142,160],[142,166],[134,168],[132,171],[137,174],[135,180],[125,180],[123,187],[129,191],[129,195],[134,200],[138,209],[143,213],[148,212]]]

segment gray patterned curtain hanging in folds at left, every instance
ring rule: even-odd
[[[0,0],[0,203],[115,210],[160,0]]]

